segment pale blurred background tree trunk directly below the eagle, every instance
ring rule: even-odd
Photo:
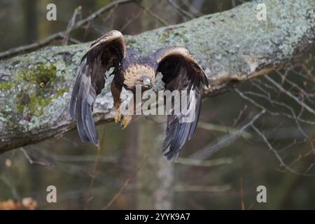
[[[137,209],[173,208],[174,163],[161,156],[164,130],[152,120],[139,123],[139,164],[148,160],[137,174]]]

